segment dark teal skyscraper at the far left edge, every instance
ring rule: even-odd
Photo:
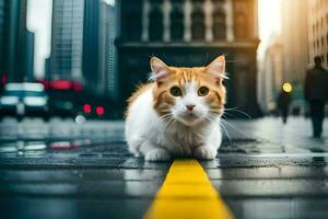
[[[0,76],[23,81],[26,51],[27,0],[0,0]]]

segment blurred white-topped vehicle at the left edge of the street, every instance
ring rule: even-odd
[[[24,116],[49,119],[48,96],[39,83],[8,83],[0,97],[0,118]]]

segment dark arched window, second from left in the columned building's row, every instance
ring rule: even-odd
[[[160,9],[153,9],[149,14],[149,39],[151,42],[163,41],[163,13]]]

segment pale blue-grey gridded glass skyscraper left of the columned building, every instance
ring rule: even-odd
[[[54,0],[49,79],[83,82],[84,0]]]

